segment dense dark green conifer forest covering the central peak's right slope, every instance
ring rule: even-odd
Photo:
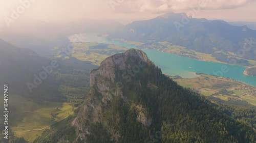
[[[130,64],[133,66],[133,63]],[[89,127],[89,133],[79,130],[87,136],[87,142],[256,141],[254,108],[211,103],[202,95],[179,86],[162,74],[153,63],[141,69],[130,81],[119,76],[121,71],[117,72],[120,72],[117,74],[117,81],[124,85],[123,96],[128,100],[118,95],[113,96],[110,102],[104,104],[99,122],[93,122],[89,117],[86,124],[80,125]],[[93,96],[97,103],[102,99],[100,93]],[[148,126],[139,121],[139,115],[146,117]],[[62,126],[52,127],[53,131],[45,131],[35,141],[47,142],[48,139],[60,142],[63,138],[74,141],[75,130],[70,124],[72,120],[63,121]],[[65,123],[68,124],[64,125]],[[68,130],[64,129],[65,126]],[[75,140],[84,141],[79,137]]]

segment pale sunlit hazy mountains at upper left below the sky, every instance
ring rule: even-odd
[[[86,32],[105,33],[123,25],[113,20],[81,19],[65,23],[20,21],[0,32],[0,38],[15,46],[29,48],[39,54],[49,54],[55,46],[67,47],[68,37]]]

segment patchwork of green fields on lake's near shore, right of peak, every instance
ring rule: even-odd
[[[227,101],[228,98],[244,100],[256,106],[255,87],[224,77],[200,74],[195,78],[171,77],[182,87],[194,89],[204,96],[214,96]],[[210,81],[214,81],[211,84]]]

